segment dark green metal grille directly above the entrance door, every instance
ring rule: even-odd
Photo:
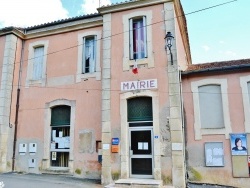
[[[137,97],[127,100],[128,122],[153,121],[152,98]]]

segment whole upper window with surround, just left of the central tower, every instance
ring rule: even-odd
[[[76,82],[83,79],[101,80],[101,31],[78,34],[78,62]]]

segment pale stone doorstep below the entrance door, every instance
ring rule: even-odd
[[[119,179],[114,184],[106,186],[111,187],[143,187],[143,188],[160,188],[162,187],[162,180],[154,179]]]

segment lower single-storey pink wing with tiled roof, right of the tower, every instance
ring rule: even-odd
[[[249,65],[243,59],[182,72],[189,181],[250,186]]]

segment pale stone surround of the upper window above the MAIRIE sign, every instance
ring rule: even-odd
[[[138,11],[138,12],[133,12],[130,14],[126,14],[123,16],[123,33],[124,33],[124,39],[123,39],[123,70],[129,70],[131,66],[134,65],[134,59],[130,58],[130,53],[131,53],[131,48],[130,48],[130,20],[131,19],[136,19],[140,17],[145,17],[145,30],[146,30],[146,57],[147,58],[142,58],[142,59],[137,59],[137,64],[138,65],[145,65],[147,64],[148,68],[154,67],[154,57],[153,57],[153,47],[152,47],[152,11]]]

